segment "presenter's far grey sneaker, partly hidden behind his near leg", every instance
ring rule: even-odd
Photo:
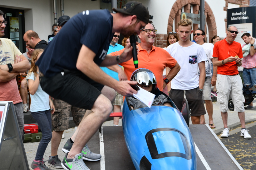
[[[73,144],[71,143],[70,139],[68,139],[66,144],[62,148],[62,151],[65,152],[65,153],[69,152],[71,147],[72,147],[72,145]],[[82,154],[83,154],[83,159],[87,160],[87,161],[98,161],[98,160],[101,160],[101,155],[100,154],[95,154],[95,153],[91,152],[91,150],[89,149],[87,144],[82,149]]]

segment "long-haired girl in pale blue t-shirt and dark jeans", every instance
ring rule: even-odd
[[[31,57],[31,69],[27,74],[29,93],[31,94],[30,112],[42,130],[42,139],[37,148],[35,160],[32,162],[31,170],[51,170],[43,162],[43,155],[48,143],[52,139],[51,113],[55,108],[50,96],[44,92],[39,83],[38,66],[35,65],[43,50],[34,50]],[[50,109],[52,111],[50,111]]]

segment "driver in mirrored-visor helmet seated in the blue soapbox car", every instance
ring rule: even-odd
[[[152,103],[152,106],[164,105],[164,106],[172,107],[172,103],[169,97],[165,96],[164,94],[161,94],[160,90],[157,88],[155,75],[152,71],[145,68],[137,69],[132,74],[130,80],[137,81],[138,82],[137,85],[139,87],[156,95]],[[138,99],[135,99],[133,97],[127,97],[127,99],[131,109],[147,107],[144,103],[142,103]]]

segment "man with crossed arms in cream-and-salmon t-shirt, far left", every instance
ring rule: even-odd
[[[7,24],[3,16],[4,13],[0,10],[0,37],[4,36]],[[0,51],[0,101],[13,102],[23,141],[23,104],[19,94],[16,76],[29,70],[30,64],[10,39],[0,38]]]

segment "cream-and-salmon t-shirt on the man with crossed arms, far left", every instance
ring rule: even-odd
[[[15,56],[22,55],[10,39],[0,38],[0,65],[14,64]],[[10,81],[0,83],[0,101],[12,101],[13,104],[22,102],[19,94],[16,77]]]

